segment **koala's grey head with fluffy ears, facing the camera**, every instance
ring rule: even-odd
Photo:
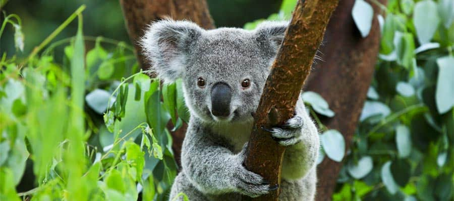
[[[253,119],[287,25],[204,30],[188,21],[163,20],[149,26],[141,45],[164,82],[183,79],[192,116],[205,122],[244,122]]]

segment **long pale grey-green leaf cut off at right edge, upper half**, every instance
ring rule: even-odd
[[[438,58],[437,64],[439,70],[435,100],[438,112],[444,114],[454,106],[454,57]]]

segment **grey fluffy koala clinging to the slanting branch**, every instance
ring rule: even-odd
[[[152,23],[140,44],[164,82],[182,79],[191,114],[182,147],[182,170],[169,200],[184,192],[191,201],[241,200],[276,190],[244,165],[247,142],[271,64],[288,22],[264,22],[255,30],[204,30],[189,21]],[[279,200],[313,200],[318,131],[301,94],[295,116],[264,128],[281,146]],[[177,198],[183,200],[183,197]]]

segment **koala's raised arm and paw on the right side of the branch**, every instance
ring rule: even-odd
[[[319,139],[315,124],[298,101],[296,116],[285,125],[265,129],[282,146],[288,146],[282,161],[282,178],[295,180],[306,176],[315,167]]]

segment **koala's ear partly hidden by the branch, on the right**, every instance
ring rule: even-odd
[[[287,21],[262,22],[255,28],[257,40],[275,53],[282,43],[288,26]]]

